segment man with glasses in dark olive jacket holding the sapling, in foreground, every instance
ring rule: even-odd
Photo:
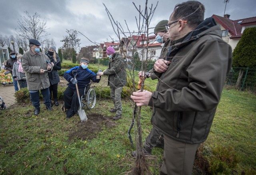
[[[177,4],[168,25],[170,59],[159,59],[156,91],[133,92],[137,106],[154,107],[151,122],[164,134],[161,175],[192,174],[194,157],[209,134],[232,49],[213,18],[204,20],[198,1]]]

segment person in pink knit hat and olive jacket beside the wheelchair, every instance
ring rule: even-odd
[[[110,112],[116,112],[113,120],[118,120],[122,117],[122,88],[126,85],[126,70],[124,59],[117,54],[113,47],[108,47],[106,53],[110,59],[109,69],[106,69],[98,75],[108,75],[108,86],[110,86],[110,97],[114,102],[114,108]]]

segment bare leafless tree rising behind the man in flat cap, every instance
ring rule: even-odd
[[[47,21],[45,19],[42,20],[40,14],[37,12],[32,16],[27,11],[24,13],[26,16],[18,19],[17,35],[27,40],[33,38],[38,41],[43,41],[43,37],[49,35],[46,32],[46,30],[49,29],[46,27]]]

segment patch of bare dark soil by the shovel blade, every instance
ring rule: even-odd
[[[88,120],[86,122],[79,122],[76,130],[73,130],[69,134],[68,141],[79,140],[92,140],[98,133],[105,128],[112,128],[116,126],[116,123],[112,118],[103,116],[101,114],[88,114]]]

